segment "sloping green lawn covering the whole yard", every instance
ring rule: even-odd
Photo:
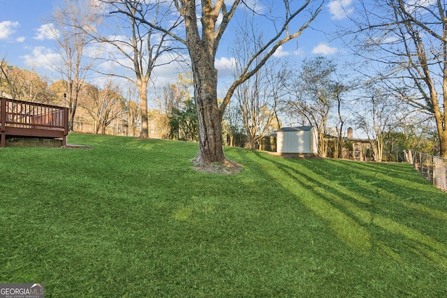
[[[446,297],[447,194],[408,164],[73,134],[0,149],[0,283],[45,297]]]

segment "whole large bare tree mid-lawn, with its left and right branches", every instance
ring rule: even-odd
[[[309,27],[309,24],[321,11],[322,2],[307,0],[297,4],[295,1],[284,0],[281,6],[278,6],[277,1],[270,1],[270,10],[266,8],[270,12],[269,15],[259,14],[256,7],[249,7],[241,0],[234,0],[228,6],[224,0],[200,1],[200,4],[196,3],[198,2],[196,0],[173,0],[172,2],[184,21],[184,35],[181,35],[181,32],[173,31],[166,24],[160,26],[152,22],[144,13],[140,13],[136,18],[154,29],[168,33],[188,48],[199,128],[199,151],[196,161],[202,165],[214,162],[228,163],[223,154],[221,124],[223,112],[235,89],[256,74],[281,45],[297,38],[302,31]],[[267,2],[263,1],[262,4]],[[265,39],[265,43],[259,47],[258,52],[254,53],[252,59],[247,62],[240,77],[230,85],[219,105],[217,101],[217,69],[214,67],[214,61],[223,33],[228,28],[230,21],[233,20],[237,8],[251,10],[257,15],[260,22],[270,22],[272,31],[270,31],[271,35]],[[279,15],[272,15],[273,12],[279,13]],[[173,14],[176,15],[174,12]],[[128,15],[130,14],[128,13]],[[300,20],[301,16],[303,17]]]

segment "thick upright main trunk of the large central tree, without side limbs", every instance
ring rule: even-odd
[[[203,15],[201,16],[203,28],[200,37],[195,2],[182,1],[186,45],[191,57],[194,100],[196,100],[198,118],[199,150],[196,161],[201,165],[225,163],[226,158],[223,155],[222,142],[223,110],[219,109],[217,104],[217,69],[214,68],[214,57],[217,51],[214,29],[220,9],[213,10],[209,6],[210,3],[203,7]]]

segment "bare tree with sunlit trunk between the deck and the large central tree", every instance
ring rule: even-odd
[[[119,59],[114,52],[108,52],[108,56],[102,57],[104,61],[112,61],[116,66],[122,67],[133,73],[132,76],[119,74],[117,72],[104,72],[103,74],[115,75],[129,80],[138,88],[140,95],[140,137],[149,137],[149,124],[147,118],[147,87],[151,79],[152,71],[157,66],[163,66],[177,60],[172,46],[172,38],[168,33],[156,30],[166,17],[170,16],[169,8],[165,9],[165,1],[140,0],[98,0],[102,3],[103,12],[98,15],[95,27],[89,27],[89,34],[99,43],[112,45],[119,54],[124,56]],[[142,22],[138,15],[144,15],[153,26]],[[113,18],[112,26],[114,33],[102,33],[100,29],[105,28],[104,22],[99,20],[110,20]],[[170,20],[167,31],[173,31],[178,27],[180,20]],[[164,23],[166,24],[166,22]],[[160,59],[163,54],[171,54],[170,59]]]

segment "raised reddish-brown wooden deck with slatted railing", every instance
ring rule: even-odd
[[[0,98],[1,147],[6,136],[61,138],[66,147],[68,107]]]

